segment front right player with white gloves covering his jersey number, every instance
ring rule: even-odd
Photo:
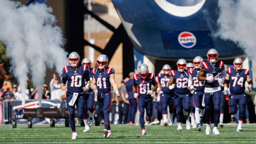
[[[210,122],[210,111],[211,104],[214,104],[214,128],[212,130],[213,134],[220,135],[218,131],[218,122],[220,119],[220,99],[221,99],[221,88],[220,84],[226,77],[226,71],[224,68],[224,63],[218,61],[219,54],[217,50],[210,49],[207,52],[208,61],[202,62],[200,64],[200,71],[198,73],[198,81],[205,81],[204,88],[204,98],[203,102],[205,104],[205,120],[206,120],[206,135],[211,132],[211,122]]]

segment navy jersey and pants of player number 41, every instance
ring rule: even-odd
[[[92,69],[92,74],[98,90],[97,103],[101,113],[104,114],[104,126],[107,130],[110,130],[109,110],[112,103],[110,75],[114,73],[115,70],[112,67],[106,67],[103,71],[100,71],[97,68]]]

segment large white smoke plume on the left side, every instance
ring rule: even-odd
[[[62,48],[62,31],[56,26],[51,12],[52,8],[45,4],[24,6],[19,2],[0,0],[0,40],[12,58],[12,70],[21,92],[27,87],[28,73],[40,92],[46,69],[55,67],[60,74],[68,64],[67,53]]]

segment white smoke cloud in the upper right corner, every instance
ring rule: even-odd
[[[255,65],[256,9],[255,0],[219,0],[220,15],[218,19],[218,36],[237,43],[252,60],[253,76]],[[254,80],[253,80],[254,82]],[[255,86],[254,86],[255,87]]]

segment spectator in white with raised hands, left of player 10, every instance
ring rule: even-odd
[[[50,81],[50,90],[51,90],[51,100],[62,100],[64,98],[65,92],[61,90],[59,78],[54,73],[53,78]]]

